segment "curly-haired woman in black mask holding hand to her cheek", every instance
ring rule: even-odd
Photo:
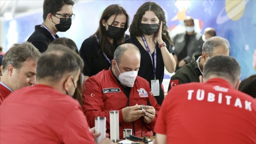
[[[139,48],[141,61],[138,75],[148,80],[158,104],[161,105],[164,100],[161,87],[164,70],[166,68],[172,73],[176,67],[165,12],[155,2],[144,3],[134,15],[129,31],[131,38],[124,43],[133,43]]]

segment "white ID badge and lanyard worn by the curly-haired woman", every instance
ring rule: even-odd
[[[154,77],[156,77],[156,48],[155,48],[155,53],[154,53],[154,62],[153,63],[153,58],[149,49],[149,46],[145,40],[145,37],[143,35],[141,35],[141,38],[144,42],[144,45],[147,49],[147,52],[149,53],[149,56],[151,58],[151,62],[152,62],[152,66],[153,66],[153,72],[154,72]],[[153,96],[159,96],[160,95],[160,84],[159,84],[159,80],[151,80],[151,92],[153,93]]]

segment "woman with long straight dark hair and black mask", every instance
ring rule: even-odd
[[[129,16],[120,5],[109,5],[101,15],[97,31],[85,39],[80,48],[84,60],[85,80],[103,69],[109,69],[116,48],[123,44]]]

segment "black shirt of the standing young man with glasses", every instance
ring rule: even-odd
[[[46,51],[48,45],[52,43],[54,39],[50,32],[48,32],[48,30],[40,26],[41,25],[35,26],[35,31],[27,39],[27,42],[32,43],[39,50],[39,52],[43,53]],[[55,37],[59,38],[57,34],[55,35]]]

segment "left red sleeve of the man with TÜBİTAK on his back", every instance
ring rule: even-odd
[[[170,96],[169,96],[170,97]],[[162,106],[161,106],[161,109],[160,109],[160,112],[159,112],[159,116],[156,120],[156,123],[155,123],[155,128],[154,128],[154,132],[155,133],[160,133],[160,134],[166,134],[166,121],[165,121],[165,116],[166,116],[166,108],[168,106],[168,97],[166,96],[163,103],[162,103]]]

